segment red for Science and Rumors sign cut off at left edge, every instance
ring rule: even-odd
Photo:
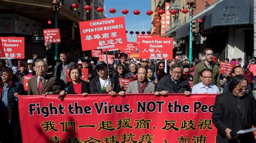
[[[0,39],[4,48],[4,59],[25,59],[24,37],[0,37]]]

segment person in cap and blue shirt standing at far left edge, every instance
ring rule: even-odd
[[[22,142],[19,125],[18,96],[24,95],[23,84],[13,80],[11,68],[2,69],[0,83],[0,142]]]

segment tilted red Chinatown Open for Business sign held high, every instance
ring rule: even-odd
[[[124,17],[79,22],[83,51],[126,46]]]

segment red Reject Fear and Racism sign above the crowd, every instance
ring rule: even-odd
[[[172,59],[173,39],[159,35],[137,35],[139,58]]]

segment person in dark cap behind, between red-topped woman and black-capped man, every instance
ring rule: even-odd
[[[83,63],[83,68],[87,68],[88,69],[88,80],[85,80],[86,82],[91,82],[91,80],[93,78],[95,78],[97,76],[97,72],[95,71],[95,69],[92,68],[91,66],[91,58],[89,56],[85,56],[82,58],[82,63]]]

